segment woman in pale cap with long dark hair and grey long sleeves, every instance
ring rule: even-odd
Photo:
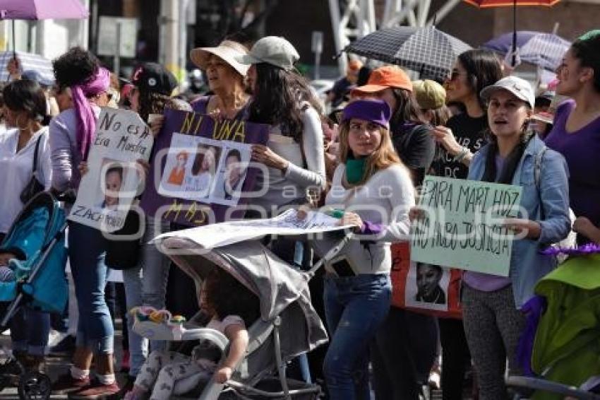
[[[271,126],[267,145],[253,145],[251,159],[265,166],[249,199],[251,211],[263,218],[276,215],[285,206],[304,204],[308,196],[320,196],[325,187],[323,127],[318,100],[306,80],[294,71],[299,55],[283,37],[258,40],[249,54],[238,61],[251,64],[248,86],[253,98],[248,121]],[[272,242],[275,254],[299,266],[311,262],[304,244],[285,238]],[[310,372],[306,356],[300,359],[306,382]],[[296,365],[295,365],[296,366]],[[292,372],[295,374],[296,372]]]

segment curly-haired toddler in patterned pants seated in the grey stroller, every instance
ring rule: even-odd
[[[244,358],[248,346],[248,331],[260,316],[258,297],[243,284],[220,268],[212,269],[203,281],[200,293],[200,310],[210,318],[207,327],[216,329],[229,339],[229,353],[221,365],[221,351],[216,346],[206,346],[200,342],[191,356],[174,351],[153,351],[140,370],[127,400],[169,399],[172,394],[188,392],[200,382],[202,377],[215,374],[215,380],[224,383],[232,377],[232,372]],[[177,382],[196,376],[193,384],[186,380],[185,387]],[[179,385],[181,386],[181,385]],[[179,392],[179,393],[177,393]]]

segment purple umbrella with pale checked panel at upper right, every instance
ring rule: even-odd
[[[552,33],[529,30],[517,32],[517,48],[522,61],[527,61],[548,71],[556,71],[570,45],[568,40]],[[507,54],[512,47],[512,33],[495,37],[484,43],[482,47]]]

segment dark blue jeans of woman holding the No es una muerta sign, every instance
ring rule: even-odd
[[[104,243],[100,230],[69,221],[68,257],[79,311],[76,345],[95,353],[112,354],[114,330],[104,300]]]

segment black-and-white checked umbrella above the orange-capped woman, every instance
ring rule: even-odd
[[[458,54],[469,49],[466,43],[433,26],[397,26],[361,37],[343,51],[404,66],[419,72],[421,78],[441,81],[452,71]]]

